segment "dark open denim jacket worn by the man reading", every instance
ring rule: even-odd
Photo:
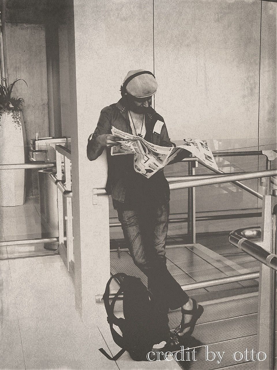
[[[164,122],[163,117],[155,112],[153,108],[149,107],[149,112],[145,115],[147,141],[163,147],[175,146],[168,137],[165,123],[163,124],[160,133],[153,132],[155,123],[158,120]],[[97,127],[93,134],[88,138],[87,156],[90,161],[98,158],[104,150],[104,147],[100,146],[96,141],[96,137],[102,134],[111,134],[112,126],[121,131],[132,134],[125,98],[121,98],[116,104],[109,105],[109,107],[102,109]],[[108,194],[111,194],[112,198],[116,201],[124,202],[126,188],[128,186],[128,172],[130,173],[130,171],[134,171],[133,160],[134,156],[131,154],[111,156],[110,148],[107,148],[108,178],[106,191]],[[166,198],[169,200],[169,186],[163,171],[157,172],[151,176],[150,179],[157,184],[157,191],[164,192]]]

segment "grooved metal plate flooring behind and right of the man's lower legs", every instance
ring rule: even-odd
[[[211,280],[226,275],[234,275],[235,272],[232,272],[232,266],[228,265],[226,270],[224,270],[224,259],[212,261],[210,256],[208,261],[206,261],[205,256],[198,255],[200,252],[199,249],[196,251],[193,246],[192,248],[178,246],[167,249],[168,270],[179,284],[183,285],[193,281]],[[111,252],[110,268],[111,273],[125,272],[128,275],[138,276],[147,285],[146,276],[134,265],[128,252]],[[231,289],[231,287],[239,291],[242,285],[232,283],[212,288],[214,290],[227,290]],[[204,289],[202,291],[206,292]],[[211,299],[214,299],[212,291],[210,291],[209,295],[211,295]],[[254,350],[257,349],[257,309],[257,296],[222,299],[221,302],[204,305],[204,313],[195,326],[193,336],[184,343],[185,348],[195,347],[197,361],[179,361],[179,365],[185,370],[254,369],[256,361],[246,362],[242,360],[236,362],[232,356],[236,351],[243,353],[246,348],[248,350],[252,348]],[[180,323],[181,311],[171,311],[168,317],[170,328],[174,329]],[[218,359],[206,361],[206,346],[208,346],[209,351],[225,352],[219,364],[216,362]]]

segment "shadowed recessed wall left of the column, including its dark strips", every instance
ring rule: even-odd
[[[10,81],[21,77],[29,85],[27,89],[21,83],[16,85],[25,99],[27,144],[35,132],[40,137],[61,136],[62,116],[63,121],[68,121],[65,112],[69,104],[61,101],[61,90],[66,90],[67,95],[69,91],[65,82],[66,61],[59,51],[59,26],[66,23],[70,3],[70,0],[1,0],[5,69]],[[38,196],[36,172],[28,171],[27,196]]]

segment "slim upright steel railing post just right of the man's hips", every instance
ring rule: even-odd
[[[188,162],[188,175],[195,175],[195,162]],[[188,237],[189,243],[196,243],[195,187],[188,189]]]

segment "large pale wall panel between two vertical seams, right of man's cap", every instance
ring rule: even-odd
[[[259,44],[260,1],[154,1],[155,108],[171,138],[257,137]]]

